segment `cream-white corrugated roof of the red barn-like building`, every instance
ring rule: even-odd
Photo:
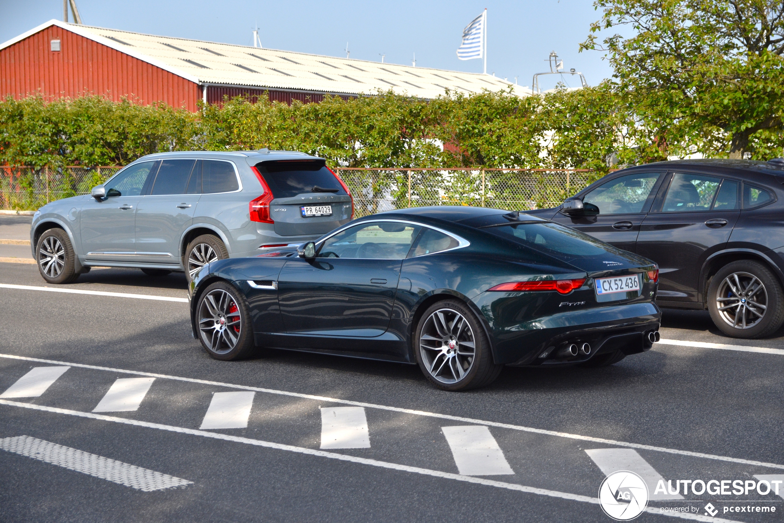
[[[122,53],[201,84],[223,84],[318,93],[375,94],[378,89],[433,99],[445,89],[461,93],[492,92],[512,87],[518,96],[530,89],[488,74],[382,64],[245,45],[143,35],[129,31],[65,24],[50,20],[0,49],[50,25],[63,27]]]

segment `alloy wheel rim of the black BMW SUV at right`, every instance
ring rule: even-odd
[[[759,324],[768,310],[768,291],[757,276],[735,272],[724,278],[716,293],[716,306],[728,325],[751,329]]]

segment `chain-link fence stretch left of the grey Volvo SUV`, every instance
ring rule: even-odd
[[[0,209],[34,210],[47,202],[88,194],[119,167],[0,167]]]

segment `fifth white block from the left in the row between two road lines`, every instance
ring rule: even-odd
[[[441,427],[460,474],[464,476],[499,476],[514,474],[498,442],[485,425]]]

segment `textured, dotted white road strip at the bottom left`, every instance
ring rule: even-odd
[[[71,447],[30,436],[0,439],[0,449],[89,474],[94,478],[114,481],[114,483],[136,488],[136,490],[143,492],[193,485],[193,481],[187,481],[187,479],[175,478],[169,474],[136,467],[136,465],[123,463],[116,459],[104,458],[97,454],[71,449]]]

